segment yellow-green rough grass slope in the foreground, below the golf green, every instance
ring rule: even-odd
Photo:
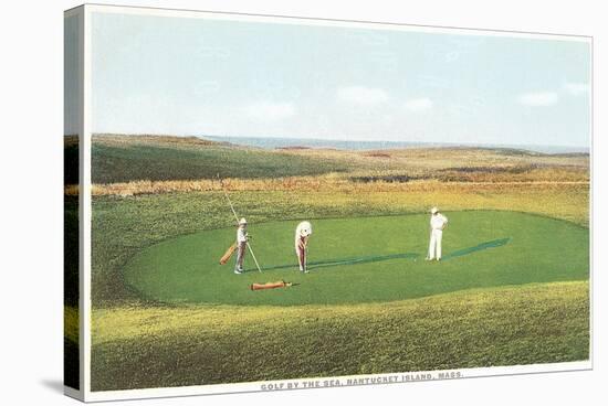
[[[333,307],[116,308],[93,391],[587,360],[588,284]]]

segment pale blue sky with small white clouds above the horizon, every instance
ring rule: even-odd
[[[588,147],[590,44],[94,13],[92,130]]]

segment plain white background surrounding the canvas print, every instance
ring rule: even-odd
[[[98,0],[98,3],[111,3]],[[145,400],[227,404],[598,404],[606,338],[606,105],[608,29],[600,1],[120,1],[210,11],[593,35],[595,42],[595,371],[405,385]],[[75,404],[62,395],[63,10],[77,1],[4,2],[0,14],[0,403]],[[606,113],[605,113],[606,114]],[[605,121],[605,120],[604,120]],[[606,249],[606,248],[604,248]],[[601,321],[604,319],[604,321]],[[604,383],[604,385],[606,385]],[[123,404],[123,403],[119,403]],[[136,404],[130,400],[125,404]]]

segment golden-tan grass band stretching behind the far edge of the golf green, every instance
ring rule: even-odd
[[[336,214],[353,207],[373,207],[375,212],[423,212],[433,205],[442,210],[511,210],[537,213],[588,224],[589,183],[586,181],[532,182],[439,182],[358,183],[342,178],[290,178],[283,180],[227,180],[226,185],[244,207],[280,207],[292,203],[297,193],[298,206],[307,212],[315,207]],[[200,199],[221,192],[214,181],[129,182],[94,185],[97,196],[123,196],[197,193]],[[306,209],[305,209],[306,207]],[[263,212],[248,210],[254,218],[266,218]],[[271,213],[275,213],[272,211]]]

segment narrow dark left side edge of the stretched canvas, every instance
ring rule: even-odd
[[[64,19],[64,367],[66,387],[81,389],[80,167],[82,141],[82,12]]]

